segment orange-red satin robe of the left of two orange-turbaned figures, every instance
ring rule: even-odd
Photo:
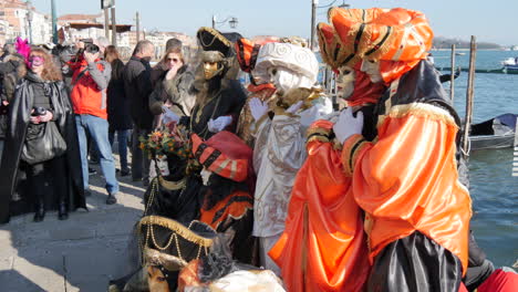
[[[318,121],[312,132],[329,134]],[[282,270],[288,291],[361,291],[370,271],[362,211],[340,150],[324,136],[309,138],[308,159],[291,192],[286,229],[269,255]]]

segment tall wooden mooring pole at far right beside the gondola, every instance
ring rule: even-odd
[[[463,139],[463,154],[465,158],[469,156],[469,129],[472,127],[473,118],[473,95],[475,85],[475,60],[477,58],[477,41],[475,35],[472,35],[472,45],[469,50],[469,71],[468,83],[466,90],[466,119],[464,123],[464,139]],[[452,76],[453,77],[453,76]]]

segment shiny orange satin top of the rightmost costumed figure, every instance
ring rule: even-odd
[[[472,200],[458,181],[454,118],[424,103],[392,106],[380,118],[377,142],[354,135],[342,152],[365,211],[370,259],[418,230],[456,254],[465,273]]]

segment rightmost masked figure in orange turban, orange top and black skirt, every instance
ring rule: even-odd
[[[406,9],[332,9],[341,43],[358,44],[361,70],[388,90],[376,106],[377,137],[363,115],[342,112],[333,131],[353,195],[365,211],[373,263],[367,291],[457,291],[468,263],[472,202],[459,182],[459,118],[427,62],[433,32]]]

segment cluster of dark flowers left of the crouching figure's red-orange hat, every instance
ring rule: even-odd
[[[154,131],[147,137],[141,136],[141,149],[147,152],[149,156],[163,158],[174,155],[180,159],[191,157],[191,146],[189,133],[185,126],[170,123],[159,131]]]

